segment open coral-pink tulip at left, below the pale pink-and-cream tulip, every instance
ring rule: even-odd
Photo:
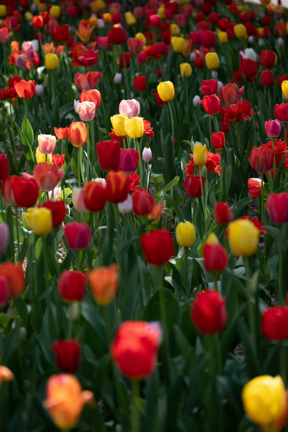
[[[55,164],[51,166],[46,162],[40,162],[34,167],[33,174],[39,189],[48,192],[56,187],[64,175],[64,170]]]

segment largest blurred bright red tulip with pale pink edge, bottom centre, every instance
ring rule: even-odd
[[[161,336],[158,322],[122,323],[111,346],[111,356],[120,372],[134,380],[152,375],[156,368]]]

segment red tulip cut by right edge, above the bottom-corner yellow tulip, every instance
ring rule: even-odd
[[[277,306],[267,308],[262,314],[262,334],[269,340],[288,339],[288,309]]]

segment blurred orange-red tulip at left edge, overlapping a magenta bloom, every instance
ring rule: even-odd
[[[5,276],[7,280],[9,298],[16,299],[22,294],[25,286],[22,262],[17,265],[14,265],[11,261],[1,264],[0,276]]]

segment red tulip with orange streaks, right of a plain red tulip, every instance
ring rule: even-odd
[[[123,171],[110,171],[106,175],[106,199],[110,203],[121,203],[128,195],[130,181]]]

